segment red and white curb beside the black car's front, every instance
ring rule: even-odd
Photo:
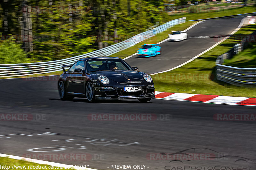
[[[164,100],[195,101],[228,105],[248,105],[256,106],[256,98],[232,97],[205,94],[155,92],[156,98]]]

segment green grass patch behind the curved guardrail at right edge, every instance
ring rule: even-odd
[[[256,43],[251,43],[249,46],[232,59],[225,60],[223,65],[241,68],[256,68]]]

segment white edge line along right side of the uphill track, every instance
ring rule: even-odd
[[[220,43],[222,43],[223,41],[225,41],[226,39],[228,39],[228,37],[230,37],[231,35],[233,35],[234,33],[236,33],[243,25],[244,25],[244,18],[241,20],[239,26],[238,26],[232,33],[230,33],[227,37],[225,37],[225,38],[222,39],[221,41],[219,41],[219,42],[217,42],[216,44],[214,44],[212,47],[210,47],[210,48],[204,50],[202,53],[196,55],[195,57],[191,58],[190,60],[188,60],[188,61],[185,62],[185,63],[182,63],[182,64],[180,64],[180,65],[178,65],[178,66],[176,66],[176,67],[173,67],[173,68],[171,68],[171,69],[169,69],[169,70],[165,70],[165,71],[153,73],[153,74],[151,74],[151,75],[155,75],[155,74],[159,74],[159,73],[164,73],[164,72],[172,71],[172,70],[177,69],[177,68],[179,68],[179,67],[181,67],[181,66],[183,66],[183,65],[185,65],[185,64],[187,64],[187,63],[190,63],[191,61],[195,60],[197,57],[203,55],[203,54],[206,53],[207,51],[210,51],[212,48],[216,47],[217,45],[219,45]]]

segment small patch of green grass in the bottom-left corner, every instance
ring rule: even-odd
[[[3,158],[3,157],[0,157],[0,163],[1,163],[1,166],[10,166],[11,168],[12,168],[12,165],[15,165],[16,166],[16,168],[14,168],[15,170],[28,170],[28,169],[51,169],[51,168],[48,168],[48,166],[47,165],[43,165],[43,164],[36,164],[36,163],[31,163],[31,162],[27,162],[27,161],[23,161],[23,160],[16,160],[16,159],[10,159],[10,158]],[[24,168],[24,167],[17,167],[17,166],[44,166],[44,167],[46,167],[46,168]],[[10,168],[10,169],[11,169]],[[0,170],[5,170],[5,169],[7,169],[7,168],[0,168]],[[60,168],[56,168],[56,167],[54,167],[54,170],[60,170]],[[61,168],[62,169],[62,168]],[[63,168],[63,169],[65,169],[65,168]]]

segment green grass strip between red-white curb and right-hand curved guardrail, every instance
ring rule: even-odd
[[[194,61],[175,70],[152,75],[156,91],[256,97],[255,88],[238,87],[215,80],[216,58],[240,41],[235,40],[234,37],[251,34],[255,29],[255,24],[245,26],[230,39],[222,42]]]

